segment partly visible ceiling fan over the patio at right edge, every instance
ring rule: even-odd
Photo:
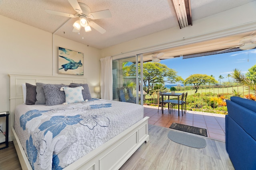
[[[230,47],[228,49],[224,49],[222,51],[226,51],[234,48],[239,48],[241,50],[250,50],[250,49],[254,49],[255,47],[256,47],[256,35],[248,35],[243,37],[236,46]],[[218,51],[218,53],[222,51]]]

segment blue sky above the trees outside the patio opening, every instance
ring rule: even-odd
[[[224,79],[221,82],[227,82],[227,75],[235,68],[238,68],[245,74],[249,68],[256,64],[256,49],[190,59],[178,57],[161,60],[160,63],[166,64],[169,68],[176,70],[178,72],[177,75],[181,76],[184,80],[192,74],[207,74],[209,76],[213,75],[217,81],[219,80],[218,77],[222,75]]]

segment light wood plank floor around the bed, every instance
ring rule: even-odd
[[[120,170],[234,170],[225,142],[205,138],[207,146],[196,149],[171,141],[167,135],[172,129],[148,127],[150,140]],[[13,144],[0,150],[0,170],[21,170]]]

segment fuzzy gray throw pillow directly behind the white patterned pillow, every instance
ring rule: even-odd
[[[64,91],[60,91],[60,88],[68,87],[65,84],[43,84],[44,94],[46,98],[46,106],[52,106],[57,104],[63,104],[66,101]]]

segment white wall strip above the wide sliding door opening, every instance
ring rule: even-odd
[[[173,27],[102,49],[101,55],[118,59],[256,30],[255,9],[256,1],[193,21],[192,26]]]

